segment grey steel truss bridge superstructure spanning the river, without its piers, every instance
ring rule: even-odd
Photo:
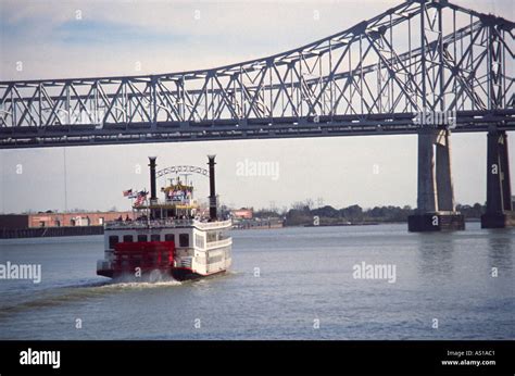
[[[515,127],[514,23],[406,1],[344,32],[181,73],[0,82],[0,148],[414,134]]]

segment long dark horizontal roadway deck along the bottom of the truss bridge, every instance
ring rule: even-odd
[[[133,124],[73,124],[49,127],[0,128],[0,149],[63,146],[93,146],[141,142],[184,142],[236,139],[305,138],[339,136],[386,136],[416,134],[423,125],[414,124],[414,114],[373,114],[282,117],[227,122],[159,122]],[[427,127],[427,125],[424,125]],[[515,110],[457,112],[453,133],[515,129]],[[443,127],[437,126],[437,127]]]

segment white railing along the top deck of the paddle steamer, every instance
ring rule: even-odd
[[[159,228],[194,226],[200,229],[230,227],[231,220],[217,222],[202,222],[198,220],[151,220],[151,221],[114,221],[104,225],[105,229]]]

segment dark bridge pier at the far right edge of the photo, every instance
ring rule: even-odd
[[[488,131],[487,161],[487,212],[481,215],[481,227],[515,226],[506,131],[497,127]]]

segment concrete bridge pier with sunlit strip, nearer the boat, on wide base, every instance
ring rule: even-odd
[[[410,231],[465,229],[464,216],[455,211],[450,140],[448,129],[418,133],[417,210],[407,218]]]

